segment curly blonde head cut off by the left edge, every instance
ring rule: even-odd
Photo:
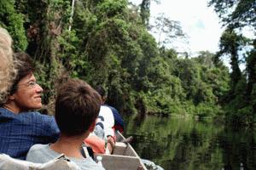
[[[11,48],[12,38],[8,31],[0,27],[0,105],[6,101],[9,88],[15,77],[13,51]]]

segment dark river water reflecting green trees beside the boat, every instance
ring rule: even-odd
[[[165,170],[256,169],[255,130],[178,117],[127,116],[125,123],[138,155]]]

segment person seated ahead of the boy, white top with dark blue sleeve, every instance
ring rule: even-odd
[[[101,110],[96,120],[96,127],[84,143],[89,145],[95,153],[113,153],[115,146],[115,131],[124,131],[124,121],[119,112],[109,105],[104,88],[98,86],[96,91],[101,95]]]

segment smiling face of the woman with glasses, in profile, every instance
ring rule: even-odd
[[[10,96],[10,99],[15,102],[17,109],[29,111],[42,107],[41,94],[43,88],[38,85],[33,74],[23,77],[17,86],[15,94]]]

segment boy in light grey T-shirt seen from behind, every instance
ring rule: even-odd
[[[93,132],[100,107],[100,95],[89,84],[79,79],[67,80],[59,88],[55,101],[60,138],[54,144],[33,145],[26,160],[44,163],[64,154],[81,169],[103,169],[80,150],[84,139]]]

